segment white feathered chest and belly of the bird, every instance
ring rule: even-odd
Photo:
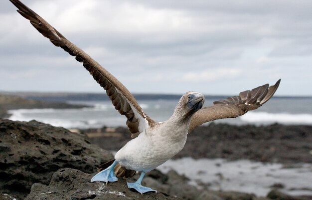
[[[127,169],[149,172],[180,152],[186,136],[186,127],[171,128],[164,122],[129,141],[115,159]]]

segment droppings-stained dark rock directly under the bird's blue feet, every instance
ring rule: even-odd
[[[49,186],[34,184],[25,200],[179,200],[161,193],[141,195],[132,192],[123,179],[107,185],[103,182],[91,183],[94,175],[68,168],[60,169],[53,174]]]

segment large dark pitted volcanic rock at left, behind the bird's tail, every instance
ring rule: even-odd
[[[0,193],[23,199],[34,183],[49,184],[60,168],[86,173],[113,158],[83,134],[37,121],[0,119]]]

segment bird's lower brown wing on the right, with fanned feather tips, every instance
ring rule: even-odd
[[[215,101],[212,106],[200,109],[192,116],[188,132],[205,122],[223,118],[235,118],[244,115],[249,110],[259,108],[269,101],[279,87],[280,82],[281,79],[270,87],[269,84],[265,84],[251,91],[246,90],[239,93],[238,96]]]

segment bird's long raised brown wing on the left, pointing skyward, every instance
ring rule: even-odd
[[[147,126],[156,124],[155,121],[144,113],[128,89],[98,62],[67,40],[53,26],[22,2],[19,0],[10,1],[18,8],[17,12],[28,19],[43,36],[49,38],[55,46],[61,47],[70,55],[75,56],[77,61],[83,63],[83,66],[90,72],[93,78],[106,90],[116,110],[127,117],[127,126],[132,133],[132,137],[136,137]]]

